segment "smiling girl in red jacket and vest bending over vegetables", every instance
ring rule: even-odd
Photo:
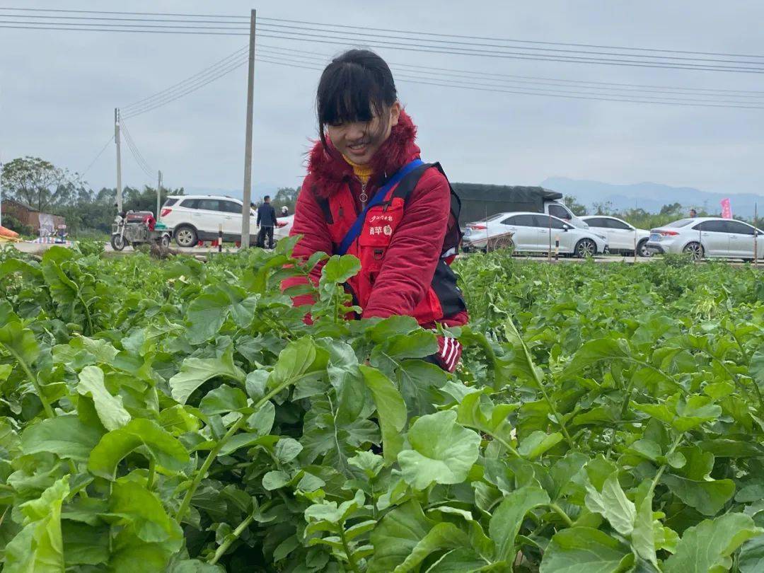
[[[295,257],[358,257],[361,272],[346,288],[363,318],[413,316],[425,328],[465,324],[448,267],[460,238],[458,197],[439,164],[419,159],[416,126],[387,63],[368,50],[343,53],[323,71],[316,99],[319,141],[297,198],[291,235],[303,238]],[[316,268],[312,280],[320,274]],[[453,371],[460,355],[458,342],[439,337],[432,361]]]

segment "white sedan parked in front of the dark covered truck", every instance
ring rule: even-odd
[[[557,217],[533,212],[498,213],[484,221],[468,223],[465,241],[474,248],[485,248],[492,238],[511,233],[516,252],[546,253],[549,252],[550,227],[552,250],[555,241],[559,240],[560,254],[591,257],[607,249],[604,233],[574,227]]]

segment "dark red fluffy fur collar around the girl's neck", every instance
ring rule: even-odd
[[[398,125],[390,130],[390,137],[382,144],[371,161],[374,175],[371,184],[391,176],[406,163],[419,157],[416,138],[416,125],[410,116],[401,110]],[[328,197],[336,193],[353,175],[353,168],[327,140],[327,150],[321,141],[316,141],[308,154],[308,173],[312,176],[313,193]]]

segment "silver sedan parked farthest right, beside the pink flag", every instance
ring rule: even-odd
[[[764,231],[743,221],[720,217],[698,217],[654,228],[647,248],[656,253],[689,253],[694,258],[730,257],[753,261],[764,258]]]

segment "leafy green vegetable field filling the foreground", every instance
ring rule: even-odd
[[[0,251],[4,573],[764,571],[762,274],[466,257],[447,375],[288,243]]]

